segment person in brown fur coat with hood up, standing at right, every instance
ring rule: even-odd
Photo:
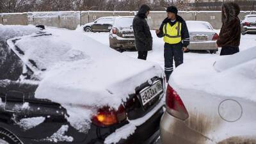
[[[222,47],[220,55],[230,55],[239,52],[241,38],[241,24],[238,18],[239,5],[228,2],[221,6],[222,27],[217,41],[218,47]]]

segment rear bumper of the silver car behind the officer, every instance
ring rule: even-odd
[[[188,49],[191,50],[218,50],[216,41],[190,42]]]

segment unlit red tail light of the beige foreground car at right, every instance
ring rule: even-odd
[[[181,120],[186,120],[188,118],[188,111],[182,100],[169,84],[166,90],[166,111],[170,113],[170,115]]]

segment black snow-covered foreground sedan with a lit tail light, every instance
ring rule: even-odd
[[[0,143],[152,143],[164,73],[83,33],[0,27]]]

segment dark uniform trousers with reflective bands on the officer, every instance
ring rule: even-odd
[[[164,73],[167,81],[169,81],[173,72],[173,59],[175,61],[175,67],[183,63],[181,42],[179,44],[164,44]]]

